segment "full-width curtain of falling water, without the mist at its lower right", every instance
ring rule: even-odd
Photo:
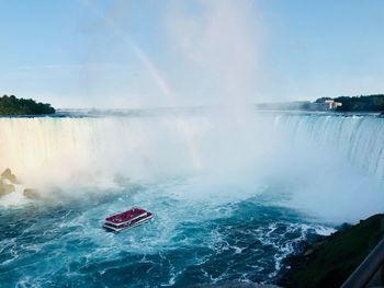
[[[109,170],[140,176],[195,171],[201,158],[212,170],[228,165],[234,171],[250,168],[242,162],[258,161],[267,153],[273,158],[284,147],[306,143],[314,153],[321,149],[384,178],[381,117],[268,114],[247,124],[240,129],[206,115],[3,117],[0,169],[9,166],[20,175]]]

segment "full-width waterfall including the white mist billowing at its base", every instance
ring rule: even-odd
[[[383,143],[384,119],[370,115],[2,117],[0,170],[46,195],[174,180],[189,199],[268,193],[312,215],[354,220],[382,211]]]

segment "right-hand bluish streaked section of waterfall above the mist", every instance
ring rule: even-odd
[[[310,141],[347,157],[351,164],[384,180],[384,118],[334,115],[282,115],[275,124],[292,141]]]

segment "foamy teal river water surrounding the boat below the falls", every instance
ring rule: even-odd
[[[1,287],[273,283],[285,255],[329,228],[263,194],[215,204],[167,193],[177,188],[128,185],[81,200],[0,209]],[[118,234],[101,229],[106,216],[133,205],[153,211],[154,221]]]

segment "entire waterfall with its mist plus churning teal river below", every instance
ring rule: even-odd
[[[0,198],[0,286],[273,283],[302,240],[382,211],[383,124],[284,113],[0,118],[0,168],[42,194]],[[101,229],[132,206],[155,219]]]

